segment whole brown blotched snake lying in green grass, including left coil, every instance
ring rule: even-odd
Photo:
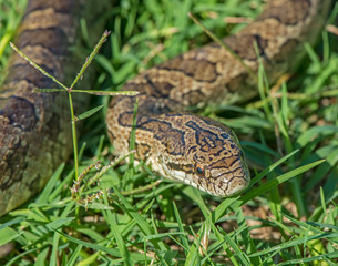
[[[17,40],[24,52],[63,80],[68,72],[60,62],[69,58],[66,45],[73,42],[61,44],[58,34],[64,34],[62,40],[75,35],[71,14],[76,9],[66,6],[69,2],[75,1],[44,4],[31,0]],[[273,0],[253,23],[223,41],[254,72],[258,69],[256,42],[274,83],[299,62],[304,42],[315,42],[329,6],[330,0]],[[39,20],[34,19],[38,11]],[[57,19],[59,13],[65,17]],[[39,41],[39,34],[49,28],[41,25],[43,19],[57,29],[50,31],[48,42]],[[50,63],[43,58],[51,59]],[[71,146],[65,141],[71,139],[66,136],[70,125],[59,94],[31,93],[33,86],[49,88],[51,82],[16,55],[11,62],[0,102],[0,214],[41,190],[58,164],[66,160]],[[218,44],[188,51],[141,73],[122,90],[140,92],[136,160],[151,164],[162,176],[216,196],[233,195],[248,185],[249,172],[234,133],[218,122],[184,111],[255,94],[255,81],[228,51]],[[110,103],[107,133],[119,154],[129,151],[135,100],[116,96]]]

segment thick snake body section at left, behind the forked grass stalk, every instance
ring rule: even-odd
[[[103,32],[98,17],[107,7],[107,1],[102,2],[105,3],[31,0],[17,47],[64,84],[70,84],[85,59],[83,54],[76,57],[70,52],[81,39],[79,19],[86,17],[95,43]],[[0,216],[39,192],[72,152],[66,93],[33,93],[34,88],[57,85],[18,54],[12,54],[8,73],[0,94]],[[91,76],[84,78],[93,80]],[[82,83],[81,89],[90,86]],[[76,113],[84,111],[88,99],[76,95],[75,101]]]

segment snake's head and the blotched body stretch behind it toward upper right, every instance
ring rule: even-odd
[[[269,81],[299,62],[304,42],[314,43],[330,0],[274,0],[240,32],[224,42],[256,72],[258,55]],[[154,66],[127,82],[139,91],[137,157],[160,175],[193,185],[216,196],[244,190],[249,173],[236,136],[225,125],[184,113],[187,106],[248,98],[254,80],[218,44],[192,50]],[[134,98],[115,98],[106,124],[117,153],[126,153]],[[147,149],[144,149],[146,145]]]

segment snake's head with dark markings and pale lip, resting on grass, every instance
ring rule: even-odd
[[[184,129],[184,141],[176,137],[165,144],[176,149],[167,157],[167,149],[161,152],[162,175],[219,197],[245,190],[250,176],[235,133],[206,117],[186,114],[178,119],[171,124]]]

